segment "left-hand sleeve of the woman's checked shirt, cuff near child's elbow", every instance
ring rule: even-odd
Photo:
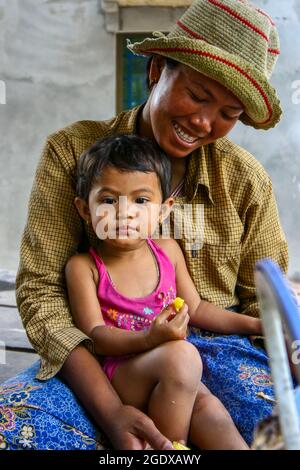
[[[70,150],[69,155],[73,159]],[[84,230],[74,206],[71,166],[67,144],[59,148],[48,139],[21,242],[17,305],[29,340],[41,356],[41,380],[54,376],[79,343],[93,349],[91,340],[73,324],[64,278],[65,263],[77,251]]]

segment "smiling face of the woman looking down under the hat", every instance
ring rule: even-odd
[[[170,68],[155,57],[149,78],[157,83],[143,109],[140,133],[154,138],[170,157],[185,157],[225,136],[244,111],[231,91],[186,65]]]

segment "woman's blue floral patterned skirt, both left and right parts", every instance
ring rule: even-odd
[[[243,336],[191,329],[204,364],[203,382],[230,412],[248,443],[272,406],[257,392],[273,395],[267,356]],[[57,377],[41,382],[35,363],[0,386],[0,449],[89,450],[107,446],[71,390]]]

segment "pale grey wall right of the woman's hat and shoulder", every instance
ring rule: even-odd
[[[281,55],[272,83],[284,116],[269,131],[238,125],[231,137],[253,153],[272,178],[293,275],[300,272],[300,0],[255,3],[273,17],[279,30]]]

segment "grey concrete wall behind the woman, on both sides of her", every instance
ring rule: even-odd
[[[300,0],[256,4],[273,16],[280,31],[282,55],[273,83],[285,117],[275,130],[238,125],[232,136],[274,181],[293,273],[300,271]],[[125,8],[120,27],[166,29],[179,14],[180,9],[163,8],[157,14],[150,7]],[[105,30],[97,0],[0,0],[0,103],[6,87],[6,104],[0,104],[0,268],[17,268],[44,139],[72,121],[112,116],[114,73],[114,35]]]

